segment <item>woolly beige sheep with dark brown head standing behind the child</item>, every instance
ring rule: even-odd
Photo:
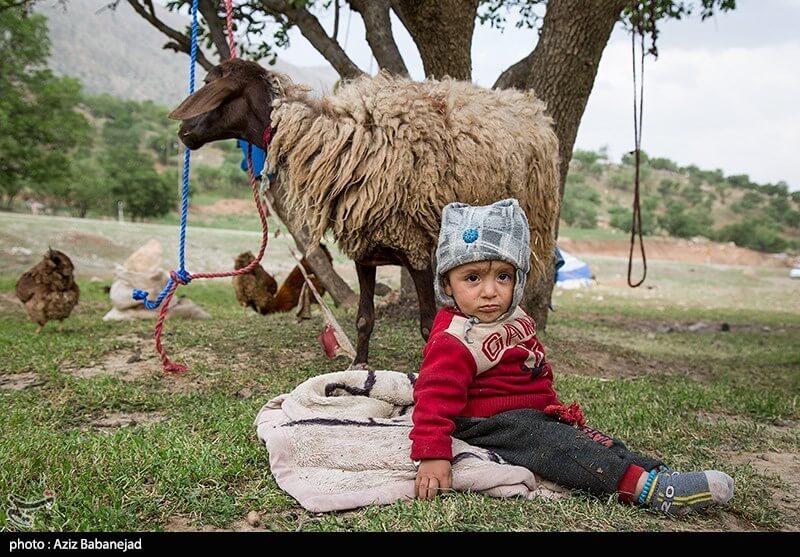
[[[240,59],[212,68],[205,82],[170,114],[182,121],[181,141],[190,149],[230,138],[269,145],[268,168],[293,218],[308,226],[310,245],[331,229],[355,261],[354,364],[368,359],[377,265],[409,270],[427,339],[436,309],[432,260],[448,203],[517,198],[531,225],[534,270],[551,264],[558,140],[533,93],[381,72],[317,99],[288,76]]]

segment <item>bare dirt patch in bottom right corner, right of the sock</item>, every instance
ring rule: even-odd
[[[733,464],[750,464],[760,474],[777,476],[783,488],[772,500],[787,515],[786,530],[800,532],[800,453],[741,453],[729,456]]]

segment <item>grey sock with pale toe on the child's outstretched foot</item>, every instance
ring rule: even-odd
[[[671,514],[722,505],[733,497],[733,478],[724,472],[661,472],[642,490],[639,504]]]

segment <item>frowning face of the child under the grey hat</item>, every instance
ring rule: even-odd
[[[486,323],[506,311],[514,298],[514,266],[506,261],[476,261],[451,269],[444,291],[465,314]]]

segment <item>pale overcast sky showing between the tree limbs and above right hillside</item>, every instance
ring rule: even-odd
[[[642,148],[681,165],[748,174],[758,183],[784,180],[800,189],[800,0],[738,0],[737,9],[704,22],[662,25],[657,60],[645,61]],[[349,21],[349,33],[347,32]],[[332,16],[322,20],[330,31]],[[423,77],[413,41],[395,20],[398,46],[412,77]],[[340,39],[353,61],[377,70],[358,14],[345,10]],[[535,32],[508,25],[500,34],[477,26],[473,79],[491,87],[527,55]],[[327,64],[295,29],[279,56],[296,65]],[[612,159],[633,148],[630,35],[617,25],[600,63],[576,148],[609,148]]]

